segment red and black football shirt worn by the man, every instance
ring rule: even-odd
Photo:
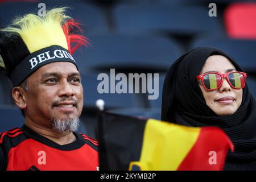
[[[0,133],[0,171],[97,170],[97,140],[73,134],[75,142],[60,145],[26,125]]]

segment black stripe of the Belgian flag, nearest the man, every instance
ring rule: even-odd
[[[99,159],[102,171],[127,171],[130,162],[139,161],[146,122],[147,119],[143,118],[101,111],[98,113]]]

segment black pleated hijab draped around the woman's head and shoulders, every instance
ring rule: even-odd
[[[237,71],[244,72],[232,57],[215,48],[198,47],[185,53],[171,65],[164,80],[162,120],[184,126],[220,127],[235,146],[233,153],[228,152],[224,169],[256,169],[255,99],[246,84],[241,106],[234,114],[218,116],[207,106],[196,76],[212,55],[227,57]]]

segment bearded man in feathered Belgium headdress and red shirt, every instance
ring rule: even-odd
[[[83,88],[72,53],[88,42],[74,27],[80,30],[61,7],[0,30],[0,66],[25,118],[0,134],[0,170],[98,169],[97,140],[75,133]]]

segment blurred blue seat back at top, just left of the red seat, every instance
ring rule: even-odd
[[[119,5],[113,10],[118,32],[145,34],[151,31],[172,34],[223,34],[218,18],[211,18],[208,9],[193,6]]]

